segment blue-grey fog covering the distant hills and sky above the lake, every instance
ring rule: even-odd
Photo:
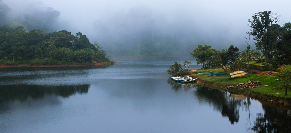
[[[242,50],[246,48],[248,19],[254,13],[278,13],[281,26],[291,21],[291,1],[283,0],[3,0],[3,3],[11,8],[8,15],[12,21],[48,7],[59,11],[60,15],[48,19],[52,22],[48,23],[47,31],[67,30],[73,34],[81,31],[91,43],[101,43],[108,56],[188,54],[199,44],[216,49],[234,45]],[[160,50],[160,54],[153,54]]]

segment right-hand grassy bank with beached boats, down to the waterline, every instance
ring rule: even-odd
[[[291,67],[290,67],[291,68]],[[287,90],[287,95],[285,95],[285,89],[281,90],[276,90],[276,86],[280,86],[282,84],[281,81],[276,80],[278,77],[274,76],[259,76],[255,74],[250,74],[246,77],[237,77],[230,79],[229,75],[221,75],[221,76],[198,76],[198,72],[222,72],[221,68],[216,68],[216,69],[207,69],[207,70],[196,70],[193,72],[194,77],[198,77],[198,79],[201,79],[201,82],[206,85],[211,85],[213,88],[217,89],[224,89],[226,86],[232,86],[236,85],[238,83],[244,83],[245,81],[261,81],[265,85],[259,85],[257,88],[246,88],[246,89],[240,89],[241,87],[235,87],[235,88],[230,88],[228,91],[231,93],[237,93],[237,94],[243,94],[251,97],[255,97],[260,100],[265,100],[265,101],[271,101],[273,100],[274,102],[284,104],[285,106],[290,106],[291,105],[291,90]],[[230,71],[227,72],[228,74]],[[279,93],[279,94],[277,94]]]

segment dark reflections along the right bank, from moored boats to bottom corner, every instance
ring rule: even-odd
[[[248,131],[256,133],[279,133],[291,132],[291,110],[277,107],[273,104],[262,103],[264,113],[257,113],[256,119],[251,125],[250,106],[251,98],[242,95],[230,94],[227,91],[208,88],[205,86],[192,86],[190,84],[177,84],[169,79],[168,84],[175,91],[182,88],[196,87],[193,91],[199,102],[208,103],[214,110],[221,113],[222,117],[227,117],[231,124],[239,122],[239,110],[242,109],[249,114],[247,125]]]

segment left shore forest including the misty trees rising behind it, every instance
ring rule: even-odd
[[[26,14],[14,21],[7,15],[11,9],[0,0],[0,64],[88,64],[108,62],[100,43],[91,44],[81,32],[50,31],[60,12],[47,8]],[[15,22],[16,21],[16,22]],[[28,31],[30,30],[30,31]]]

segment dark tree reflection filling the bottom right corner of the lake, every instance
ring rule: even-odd
[[[279,133],[291,132],[291,111],[288,109],[272,106],[269,104],[262,105],[265,113],[257,114],[251,130],[256,133]]]

